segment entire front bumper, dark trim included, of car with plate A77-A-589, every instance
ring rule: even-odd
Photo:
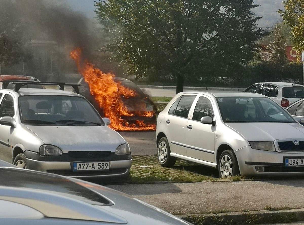
[[[132,156],[116,156],[115,153],[112,156],[105,158],[94,158],[94,159],[69,159],[69,161],[62,161],[65,157],[60,156],[40,156],[37,153],[25,151],[24,152],[29,164],[30,170],[38,170],[41,172],[55,173],[64,176],[71,176],[77,178],[98,178],[98,177],[108,177],[108,178],[125,178],[130,173],[130,168],[132,165]],[[50,161],[47,161],[47,159]],[[55,161],[57,157],[58,161]],[[51,161],[54,160],[54,161]],[[88,170],[73,172],[72,164],[73,162],[102,162],[109,161],[109,170]]]

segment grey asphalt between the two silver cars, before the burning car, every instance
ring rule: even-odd
[[[119,133],[130,144],[132,155],[156,155],[155,131]]]

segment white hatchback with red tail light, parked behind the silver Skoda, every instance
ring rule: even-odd
[[[285,82],[256,83],[245,89],[244,92],[265,95],[284,108],[304,98],[303,85]]]

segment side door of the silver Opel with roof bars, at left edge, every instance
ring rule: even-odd
[[[15,118],[14,97],[6,93],[0,104],[0,118],[2,116],[11,116]],[[6,162],[12,163],[12,134],[16,128],[0,124],[0,157]]]

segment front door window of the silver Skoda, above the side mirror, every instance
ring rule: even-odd
[[[210,100],[204,96],[200,96],[196,103],[192,119],[201,121],[203,116],[210,116],[213,119],[214,112]]]

